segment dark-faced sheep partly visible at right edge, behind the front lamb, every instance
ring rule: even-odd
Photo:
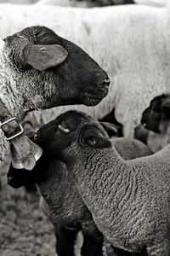
[[[169,138],[170,94],[156,96],[144,110],[141,123],[149,131],[147,144],[157,152],[170,142]]]

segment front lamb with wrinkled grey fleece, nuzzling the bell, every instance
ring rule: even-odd
[[[65,162],[99,231],[114,247],[169,255],[170,145],[123,160],[99,122],[76,111],[42,126],[36,141]]]

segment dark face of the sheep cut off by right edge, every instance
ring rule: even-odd
[[[141,123],[144,128],[161,133],[169,127],[170,121],[170,95],[156,96],[151,102],[149,108],[144,110]]]

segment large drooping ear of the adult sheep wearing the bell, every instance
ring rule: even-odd
[[[68,52],[59,44],[33,44],[25,55],[25,61],[40,71],[58,66],[65,61]]]

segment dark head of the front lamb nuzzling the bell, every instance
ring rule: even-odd
[[[37,131],[35,143],[54,158],[65,162],[65,158],[68,159],[73,152],[75,154],[72,148],[78,148],[77,145],[85,149],[111,147],[111,141],[105,130],[112,130],[112,134],[117,134],[115,125],[110,124],[106,128],[103,123],[100,124],[86,113],[71,110],[43,125]],[[76,146],[72,147],[74,143]]]

